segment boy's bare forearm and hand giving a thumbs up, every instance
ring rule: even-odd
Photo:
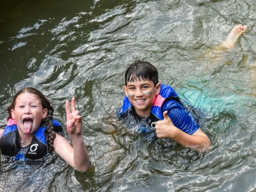
[[[198,145],[198,149],[210,146],[210,139],[201,129],[198,129],[192,135],[183,132],[173,125],[173,122],[167,115],[167,111],[163,112],[163,120],[157,121],[155,129],[159,138],[169,137],[183,146]]]

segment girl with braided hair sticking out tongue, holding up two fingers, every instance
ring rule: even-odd
[[[70,166],[80,171],[89,169],[89,155],[82,137],[82,117],[75,110],[75,98],[66,101],[67,133],[73,147],[67,140],[55,133],[60,124],[53,119],[53,107],[37,89],[25,87],[18,91],[8,106],[8,122],[0,129],[2,154],[14,156],[17,160],[41,159],[55,151]],[[47,141],[47,142],[46,142]]]

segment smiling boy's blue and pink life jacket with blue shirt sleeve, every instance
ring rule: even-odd
[[[125,116],[130,111],[134,111],[133,105],[129,102],[129,98],[123,98],[121,117]],[[168,116],[174,126],[181,129],[187,134],[192,135],[199,128],[193,115],[184,108],[178,95],[173,88],[168,85],[161,84],[160,94],[155,98],[154,105],[151,108],[151,122],[163,120],[163,112],[168,111]],[[141,128],[141,130],[144,130]],[[147,131],[142,131],[147,132]]]

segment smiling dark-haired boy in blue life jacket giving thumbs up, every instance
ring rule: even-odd
[[[149,62],[138,61],[128,67],[123,89],[121,116],[131,114],[144,121],[139,132],[150,133],[155,128],[157,137],[171,138],[183,146],[210,146],[209,138],[183,107],[175,91],[158,82],[158,71]]]

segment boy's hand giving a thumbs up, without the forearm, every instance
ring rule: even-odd
[[[155,133],[159,138],[174,138],[178,129],[173,125],[167,113],[167,111],[163,112],[163,120],[157,121],[155,124]]]

